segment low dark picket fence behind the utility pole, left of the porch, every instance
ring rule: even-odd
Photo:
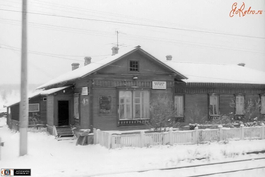
[[[19,131],[19,121],[11,120],[9,128]],[[47,124],[45,121],[28,122],[28,132],[47,132]]]

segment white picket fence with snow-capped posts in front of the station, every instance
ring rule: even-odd
[[[124,146],[132,147],[148,147],[154,145],[166,144],[198,144],[210,141],[222,140],[240,140],[240,139],[264,139],[264,124],[259,127],[241,128],[223,128],[219,125],[219,129],[198,129],[187,131],[173,131],[160,133],[145,133],[112,135],[109,132],[94,129],[94,144],[100,144],[106,148],[115,149]]]

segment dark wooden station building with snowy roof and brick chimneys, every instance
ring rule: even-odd
[[[150,104],[167,96],[175,104],[175,120],[183,124],[220,114],[243,116],[247,100],[260,99],[265,114],[264,72],[241,65],[182,63],[158,60],[140,46],[91,62],[72,64],[65,73],[37,89],[67,87],[47,95],[47,130],[74,125],[78,129],[146,129]],[[231,101],[234,100],[234,107]]]

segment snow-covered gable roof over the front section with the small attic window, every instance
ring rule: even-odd
[[[106,65],[110,65],[111,63],[115,62],[116,60],[129,55],[130,53],[132,53],[136,50],[141,50],[142,52],[146,53],[147,55],[149,55],[150,57],[152,57],[156,61],[160,62],[165,67],[169,68],[170,70],[174,71],[175,73],[178,73],[173,68],[171,68],[169,65],[164,64],[161,60],[158,60],[157,58],[153,57],[152,55],[150,55],[149,53],[147,53],[146,51],[141,49],[140,46],[137,46],[137,47],[131,48],[129,50],[124,50],[124,51],[122,51],[118,54],[112,55],[110,57],[103,58],[102,60],[99,60],[97,62],[91,62],[89,65],[86,65],[84,67],[80,67],[80,68],[77,68],[75,70],[64,73],[64,74],[60,75],[59,77],[52,79],[49,82],[37,87],[36,89],[42,89],[42,88],[46,88],[48,86],[52,86],[52,85],[55,85],[58,83],[67,82],[67,81],[74,80],[74,79],[77,79],[80,77],[85,77],[85,76],[87,76],[91,73],[94,73],[95,71],[105,67]],[[185,78],[180,73],[178,73],[178,74],[180,76],[182,76],[183,78]]]

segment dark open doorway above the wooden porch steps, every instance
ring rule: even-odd
[[[58,126],[69,125],[69,101],[58,101]]]

